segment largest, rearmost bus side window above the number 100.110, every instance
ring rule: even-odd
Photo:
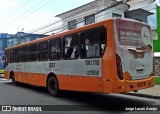
[[[104,27],[87,30],[81,33],[81,58],[101,57],[106,45]]]

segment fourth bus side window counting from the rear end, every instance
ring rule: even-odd
[[[46,61],[48,60],[48,41],[44,41],[38,44],[38,60]]]

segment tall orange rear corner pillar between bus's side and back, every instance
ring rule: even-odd
[[[104,56],[102,57],[102,72],[103,72],[103,85],[105,93],[112,93],[114,85],[113,81],[116,79],[116,63],[115,63],[115,45],[114,45],[114,20],[105,22],[107,31],[107,45]]]

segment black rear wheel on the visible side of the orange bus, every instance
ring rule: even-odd
[[[58,94],[59,94],[59,84],[58,84],[58,80],[56,79],[56,77],[51,76],[48,79],[47,89],[48,89],[48,92],[51,96],[54,96],[54,97],[58,96]]]

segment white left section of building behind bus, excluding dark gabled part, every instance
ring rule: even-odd
[[[62,26],[69,30],[112,17],[124,17],[124,12],[129,9],[129,5],[121,3],[115,7],[108,8],[115,3],[114,0],[95,0],[91,3],[59,14],[56,17],[61,18]]]

